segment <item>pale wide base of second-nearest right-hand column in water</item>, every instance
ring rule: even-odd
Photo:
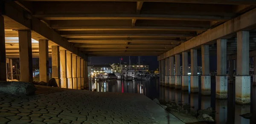
[[[227,76],[216,76],[216,99],[227,99]]]

